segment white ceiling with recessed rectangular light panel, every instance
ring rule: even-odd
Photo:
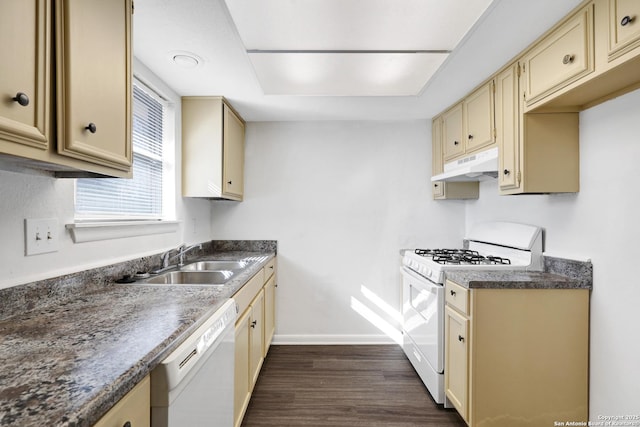
[[[580,0],[227,2],[136,0],[134,55],[179,95],[280,121],[430,118]],[[200,64],[176,65],[184,52]]]

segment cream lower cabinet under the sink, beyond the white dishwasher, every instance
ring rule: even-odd
[[[275,258],[233,296],[240,312],[235,330],[235,427],[242,424],[275,330],[274,271]]]

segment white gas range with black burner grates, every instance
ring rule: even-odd
[[[467,248],[415,249],[402,258],[403,349],[436,403],[444,393],[444,280],[454,270],[543,269],[542,230],[512,222],[483,222],[466,235]]]

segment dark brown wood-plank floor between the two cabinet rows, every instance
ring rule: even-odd
[[[466,424],[436,405],[399,346],[274,345],[242,426]]]

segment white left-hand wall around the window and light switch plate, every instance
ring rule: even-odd
[[[136,74],[170,98],[176,109],[176,164],[180,164],[180,98],[142,64]],[[180,169],[174,170],[180,193]],[[180,243],[211,239],[209,202],[177,197],[176,215],[183,220],[178,232],[74,244],[65,224],[73,222],[74,183],[71,179],[0,171],[0,288],[28,283],[129,260],[176,247]],[[57,218],[60,250],[25,256],[24,219]],[[195,225],[194,225],[195,224]]]

